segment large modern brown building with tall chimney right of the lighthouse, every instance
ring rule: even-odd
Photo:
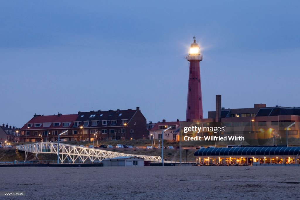
[[[216,110],[208,111],[207,119],[194,119],[191,125],[223,126],[225,131],[218,134],[244,135],[248,139],[258,140],[256,145],[265,145],[260,144],[260,140],[271,139],[274,144],[288,144],[286,138],[300,138],[299,122],[300,108],[254,104],[253,108],[225,109],[221,107],[221,96],[216,95]],[[212,134],[200,132],[195,135]],[[290,145],[297,144],[290,143]]]

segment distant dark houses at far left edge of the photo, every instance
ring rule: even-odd
[[[2,124],[0,126],[0,143],[19,142],[20,132],[16,127]]]

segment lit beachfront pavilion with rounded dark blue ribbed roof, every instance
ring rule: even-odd
[[[300,147],[202,148],[194,153],[199,164],[300,164]],[[253,163],[254,162],[254,163]]]

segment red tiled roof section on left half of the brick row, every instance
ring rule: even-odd
[[[47,115],[47,116],[37,116],[37,117],[33,117],[31,120],[29,120],[29,122],[27,122],[22,128],[21,130],[27,130],[27,124],[36,124],[36,123],[61,123],[60,126],[53,126],[53,124],[51,124],[51,126],[49,127],[35,127],[34,125],[32,127],[30,127],[30,129],[49,129],[49,128],[70,128],[71,126],[73,126],[73,122],[77,119],[78,114],[68,114],[68,115]],[[70,126],[62,126],[63,122],[71,122]]]

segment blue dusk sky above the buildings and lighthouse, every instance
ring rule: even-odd
[[[135,109],[185,120],[200,45],[204,118],[222,107],[300,106],[300,1],[2,1],[0,123]]]

